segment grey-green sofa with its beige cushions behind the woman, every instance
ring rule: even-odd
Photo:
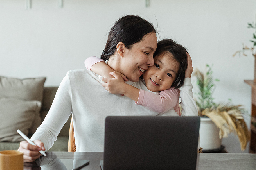
[[[37,79],[39,80],[37,81]],[[30,124],[29,123],[26,124],[27,129],[23,129],[23,133],[24,131],[25,132],[27,131],[26,135],[28,137],[31,137],[34,131],[36,131],[37,127],[39,127],[39,125],[43,122],[46,114],[48,113],[52,105],[52,101],[58,89],[58,87],[45,87],[44,86],[45,79],[46,78],[30,78],[28,80],[28,79],[7,78],[7,77],[0,76],[0,130],[2,131],[0,132],[0,151],[1,150],[17,150],[19,148],[20,141],[24,140],[20,138],[18,134],[16,134],[17,132],[16,133],[14,132],[14,130],[15,131],[17,130],[17,127],[15,127],[16,129],[13,127],[20,123],[26,124],[26,122],[23,121],[24,117],[19,117],[20,113],[18,113],[17,114],[18,116],[14,117],[14,119],[12,117],[12,115],[15,115],[15,113],[17,112],[17,109],[20,108],[21,104],[28,105],[31,103],[35,104],[37,102],[37,105],[38,105],[37,109],[39,108],[38,109],[39,117],[37,119],[37,122],[35,121],[35,118],[33,120],[30,120]],[[33,87],[31,87],[31,84],[33,83],[36,85],[33,85]],[[36,88],[34,88],[34,86],[36,86]],[[32,92],[26,93],[24,91],[32,91]],[[35,93],[42,93],[42,95],[41,97],[39,95],[38,99],[33,99],[31,96],[33,96]],[[24,98],[26,98],[26,100],[24,100]],[[11,111],[7,115],[7,113],[5,113],[7,112],[6,109],[12,103],[14,103],[13,107],[11,106],[11,108],[8,108]],[[30,113],[29,117],[31,117],[31,115],[34,116],[37,114],[36,109],[33,110],[33,108],[27,109],[24,113],[26,114]],[[18,121],[18,123],[15,121]],[[54,142],[52,148],[48,151],[68,151],[68,136],[69,136],[70,121],[71,121],[71,116],[69,117],[68,121],[60,131],[60,134],[57,137],[57,141]],[[6,124],[6,122],[9,122],[9,123],[7,123],[7,125],[3,125],[3,124]],[[9,124],[12,124],[12,122],[14,122],[15,124],[9,125]],[[12,132],[9,132],[9,131],[5,132],[6,130],[10,130],[10,129],[12,129]]]

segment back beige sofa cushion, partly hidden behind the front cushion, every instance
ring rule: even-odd
[[[37,100],[42,102],[45,80],[46,77],[19,79],[0,76],[0,99],[9,97],[24,101]],[[41,124],[39,111],[36,112],[32,127],[29,129],[30,134],[34,134]]]

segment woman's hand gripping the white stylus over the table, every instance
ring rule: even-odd
[[[33,162],[42,155],[39,151],[45,151],[44,144],[40,140],[35,140],[33,142],[36,146],[29,144],[27,141],[20,142],[18,151],[23,152],[24,162]]]

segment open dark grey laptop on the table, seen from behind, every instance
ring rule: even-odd
[[[195,170],[200,117],[108,116],[104,170]]]

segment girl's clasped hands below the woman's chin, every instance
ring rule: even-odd
[[[102,83],[102,86],[105,87],[105,89],[111,94],[124,93],[124,86],[126,85],[124,81],[128,81],[128,79],[123,74],[117,71],[110,72],[109,74],[114,76],[115,78],[102,78],[102,81],[105,82]]]

